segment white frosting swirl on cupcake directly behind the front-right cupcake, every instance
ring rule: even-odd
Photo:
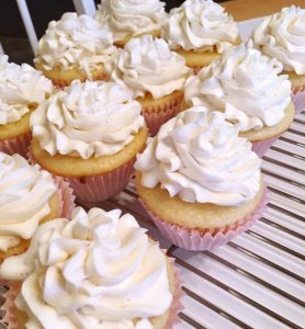
[[[291,82],[280,76],[283,66],[259,50],[240,45],[185,83],[185,101],[225,112],[241,132],[274,126],[291,102]]]

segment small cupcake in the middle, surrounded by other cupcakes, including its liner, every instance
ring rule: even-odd
[[[184,58],[171,52],[163,39],[145,35],[125,45],[111,78],[133,90],[154,136],[161,124],[180,111],[190,73]]]

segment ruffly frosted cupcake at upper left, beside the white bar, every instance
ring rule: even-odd
[[[56,87],[74,80],[108,80],[116,48],[112,34],[88,15],[65,13],[39,39],[35,66]]]

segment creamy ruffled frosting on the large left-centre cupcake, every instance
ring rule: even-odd
[[[49,155],[113,155],[145,126],[140,104],[114,82],[74,81],[31,115],[33,137]]]

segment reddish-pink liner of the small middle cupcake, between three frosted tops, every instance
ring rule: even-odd
[[[181,102],[182,99],[176,98],[173,101],[170,101],[165,105],[154,105],[154,110],[148,106],[143,107],[143,116],[150,136],[155,136],[162,124],[180,112]]]

